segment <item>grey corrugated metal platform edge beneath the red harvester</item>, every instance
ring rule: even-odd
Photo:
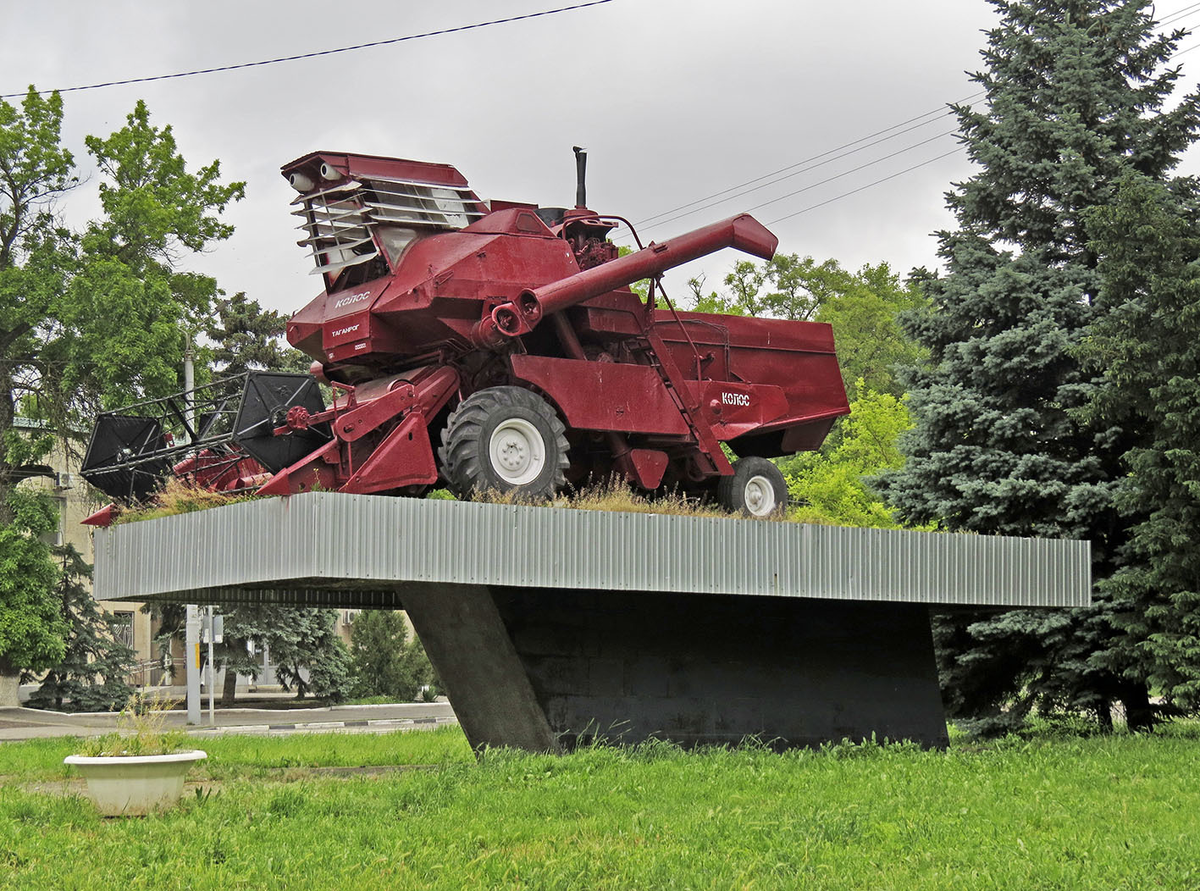
[[[104,600],[386,605],[410,582],[1082,606],[1091,546],[329,492],[96,537]]]

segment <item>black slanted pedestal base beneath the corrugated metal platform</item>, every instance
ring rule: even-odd
[[[403,599],[474,746],[947,743],[919,604],[482,586]]]

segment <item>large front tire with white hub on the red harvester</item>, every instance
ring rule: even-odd
[[[564,433],[563,421],[538,394],[491,387],[450,413],[438,456],[460,498],[494,490],[542,501],[566,485]]]

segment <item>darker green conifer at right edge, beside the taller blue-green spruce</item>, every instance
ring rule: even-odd
[[[1189,195],[1127,177],[1088,219],[1114,309],[1079,354],[1100,375],[1085,417],[1135,426],[1116,506],[1133,522],[1100,582],[1132,664],[1169,702],[1200,707],[1200,228]]]

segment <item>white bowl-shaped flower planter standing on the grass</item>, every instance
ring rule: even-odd
[[[88,781],[88,795],[104,817],[139,817],[179,802],[192,763],[208,758],[199,749],[169,755],[67,755]]]

